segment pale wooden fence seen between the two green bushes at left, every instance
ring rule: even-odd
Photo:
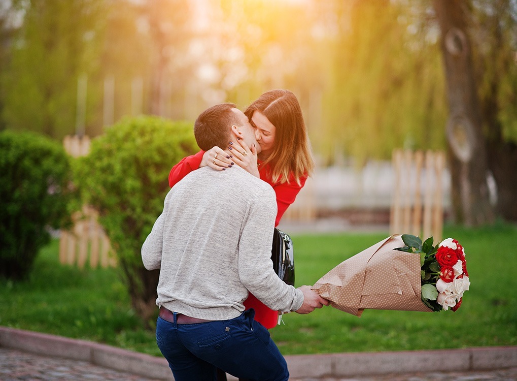
[[[90,139],[87,136],[66,136],[63,145],[73,157],[88,154]],[[110,241],[102,226],[97,222],[97,211],[84,206],[81,212],[72,216],[74,226],[62,230],[59,238],[59,261],[83,268],[89,258],[91,267],[116,266],[116,258],[111,250]]]

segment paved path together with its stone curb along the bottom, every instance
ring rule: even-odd
[[[517,346],[297,355],[286,360],[291,381],[517,381]],[[0,381],[172,379],[163,358],[0,327]]]

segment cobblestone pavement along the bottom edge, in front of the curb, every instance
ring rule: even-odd
[[[86,361],[51,358],[0,347],[0,381],[14,380],[157,381],[98,367]],[[292,379],[292,381],[517,381],[517,368],[495,371],[414,373],[353,378],[297,378]]]

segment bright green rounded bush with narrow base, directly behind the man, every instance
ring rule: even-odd
[[[171,167],[197,150],[191,124],[141,116],[109,127],[74,166],[117,254],[132,305],[146,320],[156,312],[159,272],[143,267],[142,244],[163,210]]]

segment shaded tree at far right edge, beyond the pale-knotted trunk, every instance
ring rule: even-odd
[[[497,185],[496,212],[517,221],[517,3],[472,1],[468,9],[488,167]]]

